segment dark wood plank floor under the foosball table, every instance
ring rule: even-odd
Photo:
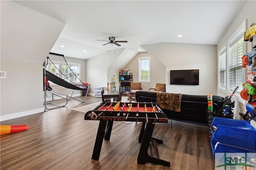
[[[78,97],[80,98],[80,97]],[[84,120],[84,113],[71,110],[101,98],[88,96],[84,103],[70,100],[66,107],[0,122],[30,127],[28,131],[0,136],[1,170],[214,170],[208,127],[171,121],[156,123],[152,137],[165,167],[137,164],[141,122],[114,122],[110,141],[103,141],[100,159],[92,160],[99,121]],[[149,152],[150,153],[150,150]]]

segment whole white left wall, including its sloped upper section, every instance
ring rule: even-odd
[[[20,6],[1,3],[1,121],[44,111],[42,64],[65,23]]]

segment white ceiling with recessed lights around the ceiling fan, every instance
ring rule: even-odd
[[[217,45],[244,0],[13,1],[66,23],[51,52],[88,59],[108,50],[160,42]],[[49,25],[50,27],[51,25]],[[177,37],[177,35],[183,37]],[[128,41],[105,45],[108,37]],[[64,45],[65,47],[60,47]],[[138,51],[141,49],[141,51]],[[83,52],[86,51],[86,52]]]

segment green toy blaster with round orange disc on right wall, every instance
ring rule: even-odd
[[[251,84],[246,82],[243,84],[243,88],[244,89],[240,92],[240,96],[242,99],[247,100],[248,103],[256,99],[255,88]]]

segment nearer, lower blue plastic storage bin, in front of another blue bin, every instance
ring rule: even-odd
[[[213,156],[217,152],[256,152],[256,130],[218,125],[211,147]]]

